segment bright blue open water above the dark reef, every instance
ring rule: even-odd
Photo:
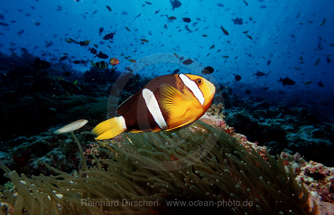
[[[246,2],[248,5],[244,1],[181,1],[172,10],[168,0],[6,1],[0,7],[0,50],[15,59],[13,54],[20,56],[25,48],[34,57],[80,72],[89,70],[90,63],[74,64],[75,60],[103,60],[94,58],[88,50],[92,47],[120,60],[116,66],[120,72],[133,64],[124,57],[139,62],[150,55],[169,53],[173,57],[176,53],[214,68],[211,75],[203,76],[222,88],[231,87],[240,98],[260,96],[286,106],[300,104],[333,120],[334,1]],[[170,16],[176,19],[169,20]],[[236,18],[243,24],[234,24]],[[101,35],[100,28],[104,28]],[[103,39],[112,32],[116,33],[113,40]],[[90,42],[85,47],[66,42],[68,38]],[[63,53],[68,58],[59,64]],[[189,71],[176,60],[158,63],[152,59],[138,73],[152,78],[176,69],[202,74],[202,68]],[[257,77],[257,71],[266,75]],[[241,80],[236,82],[233,74]],[[281,77],[296,84],[283,86]],[[312,83],[305,85],[307,82]],[[246,89],[251,94],[245,94]]]

